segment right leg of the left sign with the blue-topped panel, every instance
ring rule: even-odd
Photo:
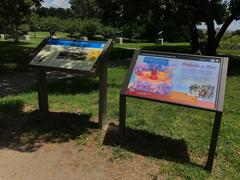
[[[100,62],[99,69],[99,129],[103,129],[107,112],[107,58]]]

